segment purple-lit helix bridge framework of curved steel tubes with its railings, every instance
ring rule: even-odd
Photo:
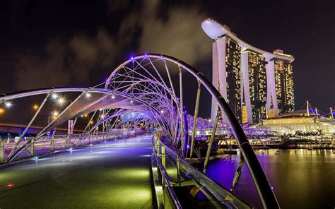
[[[189,92],[185,90],[185,80],[196,91],[194,103],[187,105],[184,97]],[[48,102],[66,94],[75,95],[74,100],[59,108],[35,136],[26,136]],[[204,95],[210,95],[206,100],[218,102],[219,111],[213,121],[199,117]],[[0,97],[0,104],[9,107],[28,97],[39,97],[42,102],[16,141],[1,141],[1,166],[8,167],[23,158],[57,153],[57,150],[80,149],[93,143],[149,134],[158,208],[187,208],[187,205],[252,208],[234,192],[242,165],[249,169],[261,205],[279,208],[248,140],[254,136],[265,137],[269,131],[242,128],[228,103],[203,73],[179,59],[162,54],[134,56],[117,66],[99,85],[8,93]],[[187,113],[185,106],[192,105],[194,112]],[[223,114],[227,123],[222,122]],[[83,130],[72,133],[81,117],[88,118],[87,124]],[[69,134],[57,135],[57,129],[64,124],[69,124]],[[240,166],[234,172],[231,188],[225,188],[206,176],[206,165],[216,142],[228,144],[232,138],[240,150]],[[194,166],[193,158],[202,159],[204,166],[200,169]]]

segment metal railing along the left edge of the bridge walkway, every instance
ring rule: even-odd
[[[39,155],[46,155],[49,153],[57,153],[61,150],[72,150],[82,146],[90,145],[93,143],[102,143],[105,141],[117,140],[121,138],[129,138],[140,134],[139,131],[134,130],[113,130],[112,132],[97,132],[89,133],[85,137],[81,134],[75,135],[55,135],[55,136],[42,136],[37,141],[34,137],[27,137],[25,141],[16,145],[15,140],[1,140],[0,139],[0,165],[8,160],[8,155],[13,149],[19,150],[23,146],[28,146],[15,160],[23,160],[30,157]],[[30,141],[30,143],[27,143]]]

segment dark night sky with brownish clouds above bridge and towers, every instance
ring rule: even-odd
[[[201,21],[213,18],[254,47],[292,54],[296,109],[308,99],[329,112],[334,8],[334,1],[0,0],[0,93],[92,86],[143,52],[175,56],[211,78],[212,40]]]

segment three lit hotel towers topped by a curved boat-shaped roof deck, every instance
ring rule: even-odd
[[[215,40],[213,85],[240,123],[252,124],[294,110],[292,55],[252,47],[211,19],[204,20],[201,27]],[[218,104],[212,100],[211,119],[217,113]]]

